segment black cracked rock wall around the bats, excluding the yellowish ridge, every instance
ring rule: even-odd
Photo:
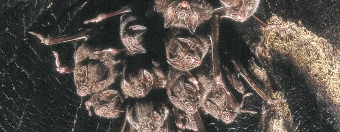
[[[62,64],[72,65],[74,44],[77,42],[47,46],[27,33],[35,31],[57,36],[76,32],[87,26],[82,24],[84,20],[99,13],[115,11],[128,3],[124,0],[0,1],[0,130],[116,131],[120,119],[89,117],[84,107],[89,97],[81,98],[77,95],[73,75],[62,75],[54,70],[51,52],[57,51],[60,54]],[[218,7],[218,0],[211,3]],[[339,8],[339,0],[262,0],[256,15],[262,20],[269,19],[271,14],[293,22],[300,20],[307,30],[325,38],[339,49]],[[118,35],[118,17],[101,24],[107,29],[108,38],[104,41],[119,42],[117,37],[112,37]],[[223,19],[221,59],[238,58],[246,63],[254,56],[256,45],[253,44],[261,40],[261,35],[260,26],[253,18],[244,23]],[[277,64],[279,62],[277,60]],[[316,96],[306,89],[306,78],[291,79],[290,73],[296,70],[290,68],[285,70],[278,67],[274,72],[281,76],[280,85],[293,113],[295,131],[338,130],[332,125],[339,122],[330,122],[335,117],[317,109]],[[261,104],[262,99],[256,95],[246,99],[244,108],[261,113]],[[261,125],[263,122],[259,114],[240,114],[229,125],[211,116],[202,114],[201,117],[208,131],[260,131],[262,126],[266,127]]]

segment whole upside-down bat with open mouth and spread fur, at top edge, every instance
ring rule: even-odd
[[[211,18],[214,10],[205,0],[155,0],[157,12],[164,16],[164,27],[196,28]]]

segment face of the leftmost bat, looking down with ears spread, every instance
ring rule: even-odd
[[[74,82],[77,86],[77,93],[83,97],[88,94],[100,91],[106,83],[107,68],[102,63],[91,63],[76,66],[74,71]]]

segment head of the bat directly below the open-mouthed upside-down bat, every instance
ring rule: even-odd
[[[202,63],[203,53],[201,52],[200,45],[189,39],[177,38],[177,45],[180,48],[179,50],[181,50],[181,54],[177,54],[175,58],[167,60],[172,67],[178,70],[190,70]]]

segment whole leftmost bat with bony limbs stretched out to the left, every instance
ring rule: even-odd
[[[78,34],[63,35],[58,37],[44,37],[43,35],[29,32],[41,39],[41,43],[46,45],[62,43],[72,40],[85,39],[83,44],[74,52],[75,65],[72,67],[61,66],[57,52],[53,51],[56,58],[55,63],[57,71],[64,73],[74,73],[74,82],[77,86],[79,96],[85,96],[101,91],[115,82],[116,78],[121,76],[121,61],[115,55],[95,54],[95,49],[100,46],[94,45],[93,36],[98,34],[98,29],[81,30]]]

